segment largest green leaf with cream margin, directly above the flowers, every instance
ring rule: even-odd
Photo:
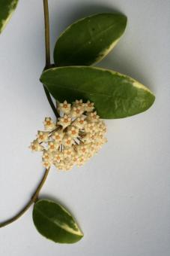
[[[49,93],[62,102],[91,100],[101,118],[139,114],[154,103],[154,95],[133,78],[107,69],[72,66],[48,69],[40,77]]]

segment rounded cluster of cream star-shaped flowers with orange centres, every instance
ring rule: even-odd
[[[43,151],[43,166],[69,170],[82,166],[106,142],[106,125],[94,111],[94,103],[76,100],[73,104],[58,102],[57,122],[44,120],[44,130],[31,142],[32,151]]]

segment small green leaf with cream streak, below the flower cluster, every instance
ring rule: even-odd
[[[73,243],[82,239],[70,212],[52,200],[38,200],[34,204],[33,221],[38,232],[54,242]]]

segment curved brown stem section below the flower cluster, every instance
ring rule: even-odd
[[[40,181],[40,184],[38,185],[37,189],[35,190],[33,196],[31,197],[31,200],[26,204],[26,206],[18,212],[13,218],[8,219],[7,221],[1,222],[0,227],[7,226],[8,224],[12,223],[13,221],[16,221],[18,218],[20,218],[31,206],[32,203],[34,203],[37,200],[38,194],[40,193],[41,188],[43,187],[44,182],[46,181],[47,175],[49,174],[49,168],[46,169],[42,180]]]

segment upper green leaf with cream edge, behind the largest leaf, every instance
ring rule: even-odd
[[[123,14],[96,14],[70,25],[55,44],[57,66],[88,66],[115,47],[127,25]]]

